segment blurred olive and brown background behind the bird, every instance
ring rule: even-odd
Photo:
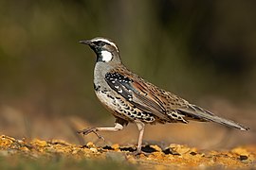
[[[95,55],[78,43],[107,37],[125,65],[155,85],[243,123],[146,127],[145,143],[226,148],[256,142],[256,1],[0,1],[0,134],[74,144],[137,144],[93,92]]]

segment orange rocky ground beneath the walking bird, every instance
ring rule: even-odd
[[[0,136],[1,160],[15,155],[32,160],[55,158],[56,155],[74,160],[115,161],[134,168],[256,168],[256,146],[241,146],[225,151],[200,151],[180,144],[170,144],[167,148],[158,145],[145,145],[145,154],[134,156],[133,146],[119,144],[97,147],[89,142],[85,145],[68,144],[64,141],[17,140],[9,136]],[[31,161],[29,161],[31,162]],[[9,166],[8,166],[9,167]],[[79,169],[79,168],[77,168]],[[123,169],[123,168],[121,168]]]

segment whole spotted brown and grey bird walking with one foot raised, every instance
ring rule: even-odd
[[[114,115],[116,121],[115,127],[87,127],[78,133],[95,133],[103,139],[98,131],[119,131],[129,123],[135,123],[139,131],[135,152],[139,154],[146,124],[188,124],[192,120],[215,122],[240,130],[249,129],[191,104],[178,95],[162,90],[137,76],[124,66],[119,48],[112,40],[97,37],[82,40],[80,43],[89,45],[96,54],[94,91],[101,104]]]

